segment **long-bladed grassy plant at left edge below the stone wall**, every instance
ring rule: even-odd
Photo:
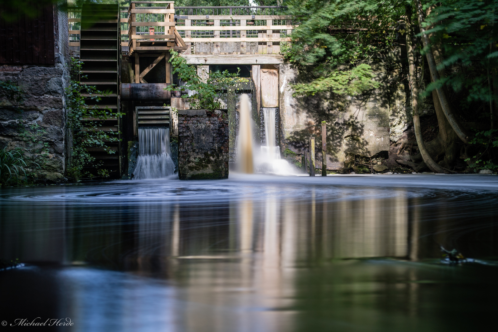
[[[0,150],[0,186],[16,185],[26,178],[26,162],[20,149]],[[23,177],[23,178],[22,178]]]

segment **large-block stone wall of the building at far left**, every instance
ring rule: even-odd
[[[0,66],[0,81],[10,81],[22,90],[23,100],[10,100],[0,91],[0,148],[24,148],[32,153],[22,140],[22,134],[39,126],[43,133],[39,142],[48,143],[39,177],[49,181],[64,178],[66,146],[66,109],[64,88],[68,85],[68,71],[64,57],[56,54],[55,67]],[[36,128],[36,127],[35,127]]]

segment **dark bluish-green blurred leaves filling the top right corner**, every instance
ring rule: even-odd
[[[435,4],[425,25],[432,27],[427,31],[433,35],[431,44],[442,48],[438,69],[446,69],[446,78],[425,93],[447,85],[465,92],[462,106],[468,109],[475,108],[473,101],[497,101],[498,86],[492,85],[498,74],[498,0],[431,0],[424,7]]]

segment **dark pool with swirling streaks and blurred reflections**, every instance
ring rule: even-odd
[[[0,258],[26,265],[0,271],[0,320],[70,318],[60,330],[92,332],[493,331],[497,203],[487,175],[2,188]],[[443,264],[440,245],[477,261]]]

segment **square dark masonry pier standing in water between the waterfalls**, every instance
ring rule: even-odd
[[[227,113],[222,110],[179,110],[178,144],[180,179],[228,178]]]

